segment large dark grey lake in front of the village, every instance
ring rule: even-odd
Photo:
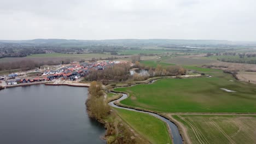
[[[86,113],[87,88],[34,85],[0,91],[0,143],[106,143]]]

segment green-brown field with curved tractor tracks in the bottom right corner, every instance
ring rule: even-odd
[[[174,115],[192,143],[255,143],[256,116]]]

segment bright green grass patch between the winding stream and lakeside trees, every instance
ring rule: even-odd
[[[150,116],[146,113],[134,112],[123,109],[115,109],[118,115],[137,131],[140,135],[146,137],[152,143],[172,143],[167,131],[166,124],[160,119]]]

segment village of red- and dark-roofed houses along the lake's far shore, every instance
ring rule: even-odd
[[[27,85],[30,83],[46,83],[52,82],[65,82],[65,81],[80,81],[82,77],[86,76],[90,70],[103,70],[109,65],[118,63],[127,63],[120,61],[97,61],[97,62],[72,62],[71,64],[58,65],[56,69],[44,68],[36,69],[28,72],[21,72],[15,74],[9,74],[6,76],[0,76],[0,87],[15,87],[18,85]],[[38,73],[36,77],[30,77],[28,74]]]

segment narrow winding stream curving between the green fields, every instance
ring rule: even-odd
[[[120,94],[123,94],[123,93],[120,93]],[[170,136],[172,137],[173,143],[174,144],[182,144],[183,143],[181,134],[179,134],[179,130],[178,130],[177,126],[173,122],[171,122],[169,119],[167,119],[165,117],[162,117],[162,116],[160,116],[156,113],[152,113],[152,112],[148,112],[148,111],[142,111],[142,110],[130,109],[130,108],[118,106],[118,105],[115,104],[115,101],[121,101],[121,100],[124,100],[126,98],[127,98],[127,94],[123,94],[123,96],[121,98],[119,98],[117,100],[110,101],[108,103],[108,105],[110,105],[112,107],[116,107],[118,109],[125,109],[125,110],[129,110],[129,111],[137,111],[137,112],[142,112],[142,113],[148,113],[149,115],[152,115],[156,118],[161,119],[162,121],[164,121],[168,125],[168,128],[171,130]]]

